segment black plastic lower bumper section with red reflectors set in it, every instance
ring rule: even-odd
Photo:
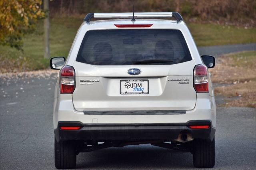
[[[190,125],[210,125],[209,128],[192,129]],[[61,130],[61,126],[80,126],[79,130]],[[186,132],[192,138],[213,140],[215,128],[210,120],[189,121],[170,124],[82,124],[81,122],[59,122],[54,130],[57,142],[64,140],[164,140],[178,138]]]

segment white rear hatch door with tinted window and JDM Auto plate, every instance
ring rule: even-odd
[[[190,110],[194,61],[179,30],[88,31],[74,69],[78,111]]]

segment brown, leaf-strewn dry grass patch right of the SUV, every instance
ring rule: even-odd
[[[228,97],[221,106],[256,108],[256,51],[224,55],[210,72],[214,83],[223,84],[214,88],[216,95]]]

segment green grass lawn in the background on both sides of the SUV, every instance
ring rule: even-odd
[[[83,18],[54,18],[50,21],[50,56],[68,55],[76,31]],[[256,42],[256,28],[239,28],[214,24],[188,24],[198,46]],[[49,59],[44,59],[43,22],[36,32],[23,39],[24,52],[0,46],[0,71],[16,72],[45,69]]]

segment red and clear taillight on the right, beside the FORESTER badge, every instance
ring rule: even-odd
[[[194,89],[197,93],[208,93],[207,67],[203,64],[194,68]]]

